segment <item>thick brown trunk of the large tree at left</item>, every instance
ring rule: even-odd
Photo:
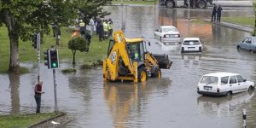
[[[19,36],[15,23],[14,16],[8,11],[4,11],[4,21],[8,28],[9,42],[10,42],[10,56],[9,56],[9,73],[20,73],[19,61]]]

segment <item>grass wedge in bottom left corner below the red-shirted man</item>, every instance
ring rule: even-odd
[[[36,124],[44,119],[49,119],[58,115],[59,113],[38,113],[38,114],[24,114],[24,115],[3,115],[0,116],[0,127],[15,128],[27,127]]]

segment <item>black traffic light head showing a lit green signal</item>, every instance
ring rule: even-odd
[[[59,67],[59,55],[58,49],[49,49],[49,67],[58,68]]]

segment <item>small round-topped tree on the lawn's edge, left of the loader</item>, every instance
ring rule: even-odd
[[[76,51],[79,50],[80,52],[88,52],[89,51],[89,44],[86,42],[85,38],[79,36],[77,38],[72,38],[68,42],[68,49],[71,49],[73,53],[73,65],[76,64],[75,62],[75,55]]]

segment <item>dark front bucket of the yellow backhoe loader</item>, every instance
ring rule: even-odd
[[[172,61],[169,60],[168,55],[154,55],[154,58],[158,61],[158,65],[163,69],[170,69]]]

